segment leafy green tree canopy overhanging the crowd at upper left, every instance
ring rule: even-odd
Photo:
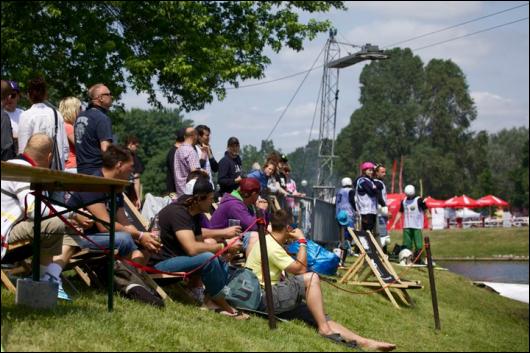
[[[329,21],[301,12],[344,9],[341,1],[3,1],[2,77],[43,75],[58,97],[105,82],[159,105],[157,90],[185,110],[227,86],[264,76],[267,47],[303,49]]]

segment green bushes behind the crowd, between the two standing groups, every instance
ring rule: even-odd
[[[113,131],[120,143],[129,135],[140,140],[138,157],[145,166],[141,181],[144,194],[166,193],[166,155],[175,143],[175,133],[184,126],[192,126],[178,110],[132,109],[113,117]]]

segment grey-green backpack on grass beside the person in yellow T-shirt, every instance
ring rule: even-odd
[[[261,303],[258,277],[248,268],[230,268],[225,299],[238,309],[256,310]]]

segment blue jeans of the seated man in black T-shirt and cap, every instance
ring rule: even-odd
[[[187,272],[191,271],[206,261],[212,256],[210,252],[203,252],[195,256],[176,256],[171,259],[160,261],[155,265],[155,268],[165,272]],[[202,282],[204,283],[205,292],[212,298],[224,296],[223,289],[228,281],[228,269],[224,262],[219,261],[219,258],[209,262],[199,270]]]

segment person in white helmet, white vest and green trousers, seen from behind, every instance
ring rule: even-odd
[[[399,213],[390,229],[394,229],[397,222],[401,219],[401,215],[404,215],[403,246],[412,251],[416,259],[423,249],[421,230],[423,229],[424,215],[427,213],[429,217],[430,214],[423,198],[416,196],[416,189],[413,185],[405,186],[405,195],[407,195],[407,198],[401,202]],[[422,258],[425,260],[423,255]]]

